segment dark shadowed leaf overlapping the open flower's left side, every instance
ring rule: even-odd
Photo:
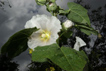
[[[29,28],[23,29],[14,35],[2,46],[1,53],[7,53],[9,57],[13,58],[25,51],[27,46],[28,37],[38,29]]]

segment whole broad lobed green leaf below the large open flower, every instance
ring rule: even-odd
[[[50,59],[53,63],[66,71],[83,71],[87,57],[83,51],[76,51],[68,47],[59,47],[57,44],[36,47],[32,53],[32,60]]]

